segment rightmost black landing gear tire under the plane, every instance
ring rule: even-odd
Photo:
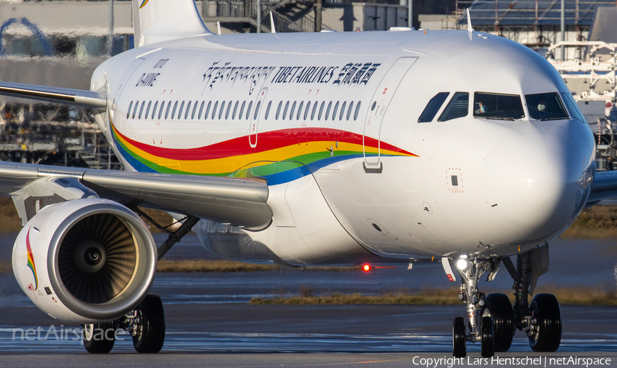
[[[529,345],[534,352],[555,352],[561,343],[561,310],[553,294],[537,294],[529,304],[533,328]]]

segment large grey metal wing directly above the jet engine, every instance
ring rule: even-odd
[[[52,185],[47,183],[55,178],[65,178],[64,182],[79,180],[77,185],[82,184],[99,197],[130,208],[158,208],[245,228],[260,228],[272,219],[272,211],[266,204],[268,187],[265,180],[0,162],[0,193],[10,194],[14,199],[20,196],[23,203],[35,195],[42,197],[38,193],[48,191]],[[33,190],[25,189],[33,183],[40,186],[32,187]],[[43,189],[40,189],[41,186]],[[75,184],[64,186],[74,188]],[[45,198],[49,198],[51,203],[52,197],[48,195]],[[22,220],[32,217],[25,216],[27,210],[22,212]],[[32,211],[29,213],[32,214]]]

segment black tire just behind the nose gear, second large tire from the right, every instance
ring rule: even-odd
[[[480,317],[493,319],[493,339],[495,352],[507,352],[512,345],[516,328],[514,311],[510,299],[503,293],[490,293],[484,300]]]

